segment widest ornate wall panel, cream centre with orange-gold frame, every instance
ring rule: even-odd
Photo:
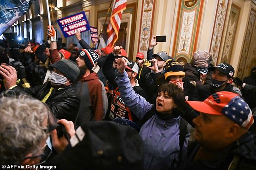
[[[175,60],[189,63],[196,50],[204,0],[180,0],[173,54]]]

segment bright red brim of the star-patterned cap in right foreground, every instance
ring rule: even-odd
[[[198,101],[187,101],[189,106],[191,106],[193,109],[197,110],[198,112],[202,112],[205,114],[214,114],[214,115],[223,115],[222,113],[218,112],[211,106],[209,106],[205,102],[198,102]]]

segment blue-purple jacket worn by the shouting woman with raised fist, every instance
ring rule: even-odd
[[[134,92],[126,72],[120,74],[118,70],[115,70],[115,74],[115,82],[118,84],[122,99],[128,108],[142,120],[153,105]],[[186,134],[182,155],[180,156],[178,124],[180,119],[181,117],[178,116],[178,118],[162,120],[154,114],[143,124],[140,135],[144,142],[144,169],[169,169],[174,157],[177,160],[174,167],[178,166],[180,158],[183,158],[187,152],[187,143],[190,136],[190,133]]]

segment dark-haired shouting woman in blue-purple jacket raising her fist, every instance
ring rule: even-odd
[[[132,89],[125,71],[127,59],[118,58],[117,62],[115,82],[125,104],[141,120],[153,112],[153,116],[149,117],[139,132],[144,142],[144,169],[176,168],[187,152],[190,136],[188,131],[192,128],[188,124],[184,145],[180,151],[180,111],[185,107],[182,89],[174,84],[164,84],[157,91],[156,104],[150,104]]]

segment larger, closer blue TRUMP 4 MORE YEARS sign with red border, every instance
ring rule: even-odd
[[[90,30],[90,25],[84,12],[58,19],[57,22],[65,38],[75,35],[76,30],[79,30],[80,32]]]

